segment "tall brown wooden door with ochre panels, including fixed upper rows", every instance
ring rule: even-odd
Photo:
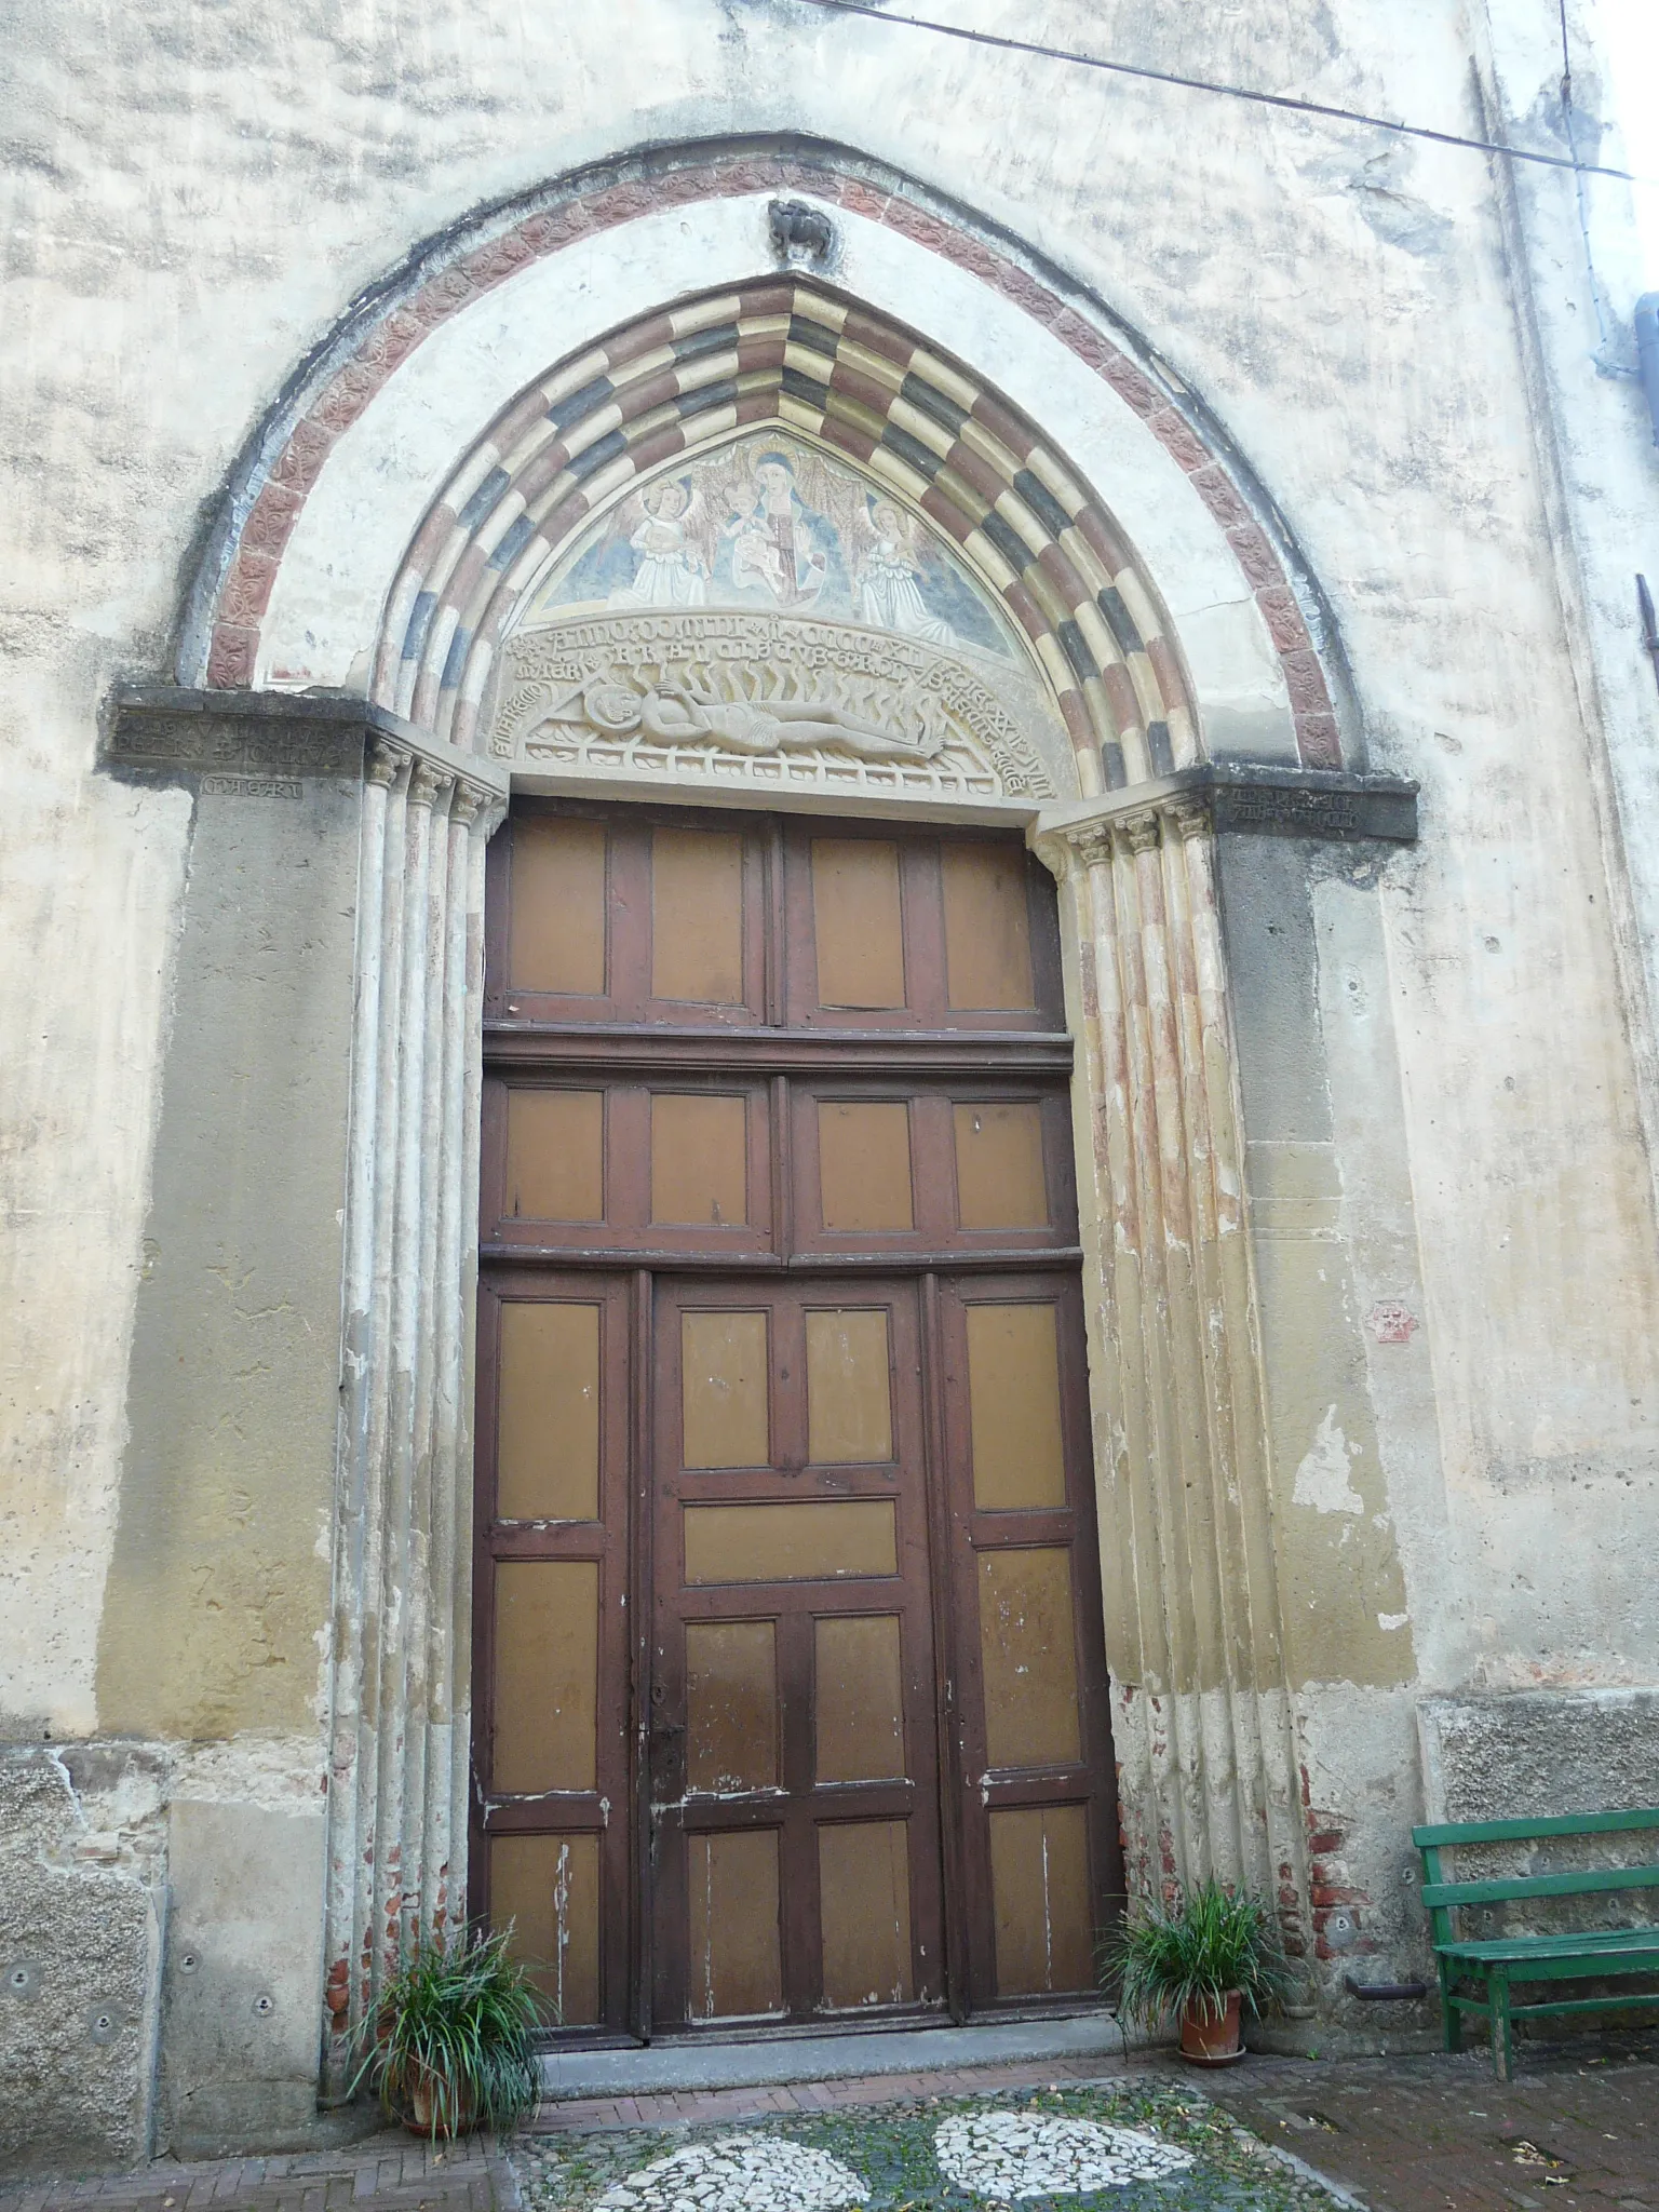
[[[1121,1880],[1046,880],[577,805],[495,872],[473,1909],[573,2035],[1075,2004]]]

